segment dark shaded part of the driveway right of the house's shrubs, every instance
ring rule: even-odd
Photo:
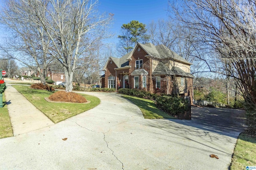
[[[245,111],[229,108],[209,108],[209,107],[191,107],[192,120],[168,119],[170,121],[202,129],[206,135],[207,131],[237,138],[238,135],[246,129]],[[155,126],[156,124],[154,124]],[[165,125],[157,124],[159,128]],[[190,128],[184,129],[190,133]],[[180,129],[182,130],[182,129]]]

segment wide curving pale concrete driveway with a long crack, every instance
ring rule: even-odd
[[[0,169],[228,169],[242,128],[212,126],[220,116],[204,121],[202,113],[211,117],[210,109],[193,107],[193,120],[144,119],[119,94],[86,94],[101,103],[66,121],[0,139]]]

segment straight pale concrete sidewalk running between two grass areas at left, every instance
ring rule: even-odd
[[[8,82],[6,85],[5,96],[14,136],[54,124]]]

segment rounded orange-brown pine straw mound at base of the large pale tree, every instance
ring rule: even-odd
[[[80,94],[74,92],[58,91],[49,96],[49,100],[54,102],[72,102],[72,103],[86,103],[87,100]]]

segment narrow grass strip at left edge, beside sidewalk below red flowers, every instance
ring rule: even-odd
[[[5,102],[6,102],[6,99],[3,93],[4,107],[0,107],[0,139],[13,136],[10,116],[9,116],[7,105],[5,104]]]

